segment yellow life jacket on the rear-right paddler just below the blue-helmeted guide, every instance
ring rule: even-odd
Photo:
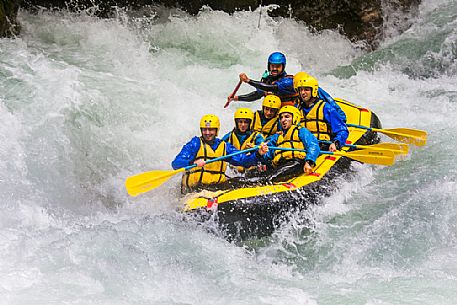
[[[332,130],[324,121],[324,105],[323,100],[319,100],[314,104],[313,108],[306,114],[302,110],[303,118],[301,123],[305,126],[318,140],[330,141]]]

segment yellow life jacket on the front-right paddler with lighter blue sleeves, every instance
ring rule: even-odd
[[[298,131],[302,127],[293,125],[289,128],[285,135],[279,135],[276,143],[277,147],[294,148],[294,149],[305,149],[305,145],[298,136]],[[299,151],[284,151],[275,150],[275,156],[273,158],[273,166],[278,166],[284,160],[290,159],[305,159],[306,153]]]

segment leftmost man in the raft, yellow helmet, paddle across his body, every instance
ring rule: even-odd
[[[227,180],[225,175],[227,162],[234,166],[254,166],[261,160],[261,156],[268,151],[266,144],[262,143],[253,154],[238,154],[205,165],[208,160],[239,151],[232,144],[217,138],[219,129],[220,121],[216,115],[204,115],[200,120],[201,137],[193,137],[182,147],[171,163],[175,170],[192,164],[197,165],[197,167],[193,167],[183,175],[181,183],[181,191],[183,193],[200,189],[202,186],[223,183]]]

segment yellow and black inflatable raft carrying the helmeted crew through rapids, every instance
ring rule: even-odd
[[[343,99],[335,101],[346,113],[348,124],[382,128],[378,117],[370,110]],[[356,127],[348,129],[347,144],[379,143],[376,132]],[[343,151],[347,150],[349,148],[343,148]],[[187,194],[183,210],[195,213],[198,217],[211,216],[217,219],[229,239],[270,235],[284,221],[288,212],[306,209],[329,194],[333,189],[332,180],[347,171],[350,162],[346,157],[320,155],[314,173],[310,175],[303,174],[268,185]]]

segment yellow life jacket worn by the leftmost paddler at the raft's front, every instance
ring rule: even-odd
[[[222,157],[226,155],[225,142],[221,141],[216,150],[213,150],[210,145],[206,144],[200,138],[200,149],[195,156],[195,160],[203,159],[205,161]],[[182,178],[182,186],[188,189],[194,189],[200,185],[208,185],[225,182],[225,170],[227,162],[215,161],[206,164],[203,167],[193,167]]]

